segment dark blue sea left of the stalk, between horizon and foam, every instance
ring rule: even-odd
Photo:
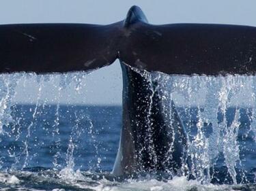
[[[57,111],[57,105],[40,105],[33,118],[35,107],[15,105],[12,108],[14,123],[5,126],[5,134],[0,136],[2,169],[63,169],[67,157],[72,157],[74,169],[111,171],[122,126],[121,107],[60,105]],[[74,152],[67,156],[70,144],[74,145]],[[58,152],[57,165],[54,165]]]

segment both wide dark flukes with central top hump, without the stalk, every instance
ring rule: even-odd
[[[88,71],[123,63],[167,74],[255,74],[256,27],[147,23],[137,6],[125,20],[95,24],[0,25],[0,72]]]

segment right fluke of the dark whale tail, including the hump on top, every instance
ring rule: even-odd
[[[137,14],[134,14],[137,12]],[[256,73],[256,27],[227,24],[148,24],[132,10],[119,58],[127,65],[184,75]],[[128,14],[129,15],[129,14]],[[127,18],[128,19],[128,18]],[[127,24],[126,24],[127,25]]]

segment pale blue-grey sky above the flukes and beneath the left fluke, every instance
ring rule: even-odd
[[[74,22],[110,24],[123,20],[132,5],[139,5],[152,24],[179,22],[243,24],[256,27],[256,1],[193,0],[193,1],[68,1],[68,0],[1,0],[0,24]],[[51,103],[120,105],[122,73],[119,62],[85,75],[81,90],[72,83],[59,90],[53,82],[38,84],[37,77],[21,79],[16,86],[14,101],[18,103]],[[42,88],[40,88],[42,86]],[[41,91],[39,91],[41,90]],[[60,91],[60,92],[59,92]],[[57,95],[61,94],[60,97]]]

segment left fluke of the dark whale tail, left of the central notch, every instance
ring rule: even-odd
[[[0,72],[87,71],[117,58],[115,24],[0,25]]]

